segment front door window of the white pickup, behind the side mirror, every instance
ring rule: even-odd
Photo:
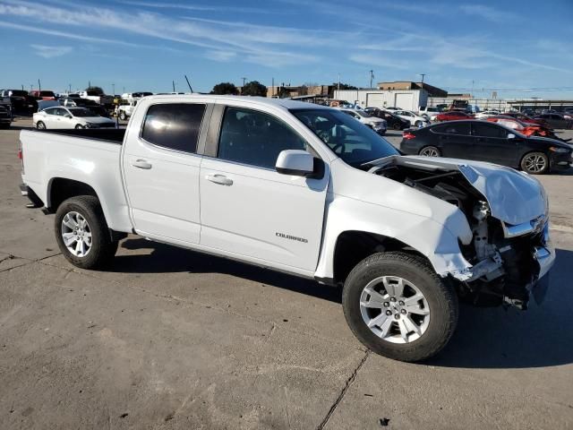
[[[261,168],[274,168],[282,150],[306,150],[307,145],[275,116],[227,107],[218,140],[218,158]]]

